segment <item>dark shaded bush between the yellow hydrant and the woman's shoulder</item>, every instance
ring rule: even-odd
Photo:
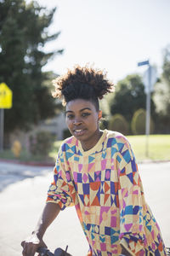
[[[47,156],[54,143],[54,137],[48,131],[37,131],[30,136],[31,154]]]

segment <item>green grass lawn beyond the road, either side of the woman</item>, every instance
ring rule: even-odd
[[[149,137],[149,156],[145,156],[145,143],[146,137],[144,135],[140,136],[127,136],[127,139],[132,145],[133,152],[135,154],[137,161],[143,160],[170,160],[170,135],[150,135]],[[21,161],[55,161],[59,146],[62,141],[54,143],[54,147],[48,154],[48,157],[44,159],[41,155],[32,156],[26,150],[22,150],[20,158]],[[0,159],[10,159],[14,160],[14,154],[11,150],[3,150],[0,152]]]

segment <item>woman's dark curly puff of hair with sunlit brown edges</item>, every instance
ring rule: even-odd
[[[106,78],[104,71],[88,67],[88,65],[85,67],[77,65],[73,70],[69,69],[65,75],[55,79],[53,83],[55,86],[54,97],[61,98],[63,96],[65,102],[69,101],[68,91],[75,90],[74,87],[77,89],[80,87],[80,90],[84,90],[85,84],[87,84],[87,90],[91,86],[91,93],[94,91],[94,96],[98,99],[102,99],[105,94],[114,90],[114,84]]]

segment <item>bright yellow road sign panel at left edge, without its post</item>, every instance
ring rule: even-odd
[[[0,108],[12,108],[13,92],[7,84],[0,84]]]

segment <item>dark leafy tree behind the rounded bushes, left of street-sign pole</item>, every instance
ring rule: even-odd
[[[115,95],[111,102],[111,113],[121,113],[130,123],[133,113],[139,108],[145,108],[146,96],[144,84],[137,74],[127,75],[116,85]],[[155,115],[155,104],[151,100],[151,113]]]

